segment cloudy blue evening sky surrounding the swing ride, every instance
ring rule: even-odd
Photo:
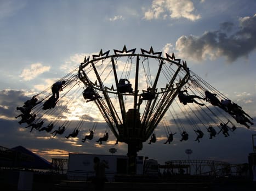
[[[95,138],[81,139],[93,123],[84,127],[78,139],[52,138],[45,132],[32,133],[14,118],[16,106],[42,92],[83,62],[85,55],[118,49],[140,48],[175,53],[188,67],[218,91],[256,117],[256,3],[253,0],[131,0],[131,1],[30,1],[0,0],[0,145],[22,145],[40,156],[67,158],[69,152],[126,154],[125,144],[115,138],[99,146],[95,140],[104,133],[98,124]],[[88,111],[84,111],[88,112]],[[89,114],[88,114],[89,115]],[[231,136],[200,143],[196,135],[180,142],[174,136],[164,145],[164,129],[157,129],[158,141],[144,144],[139,155],[167,160],[222,160],[247,162],[252,150],[250,129],[237,125]],[[174,130],[175,131],[175,130]]]

